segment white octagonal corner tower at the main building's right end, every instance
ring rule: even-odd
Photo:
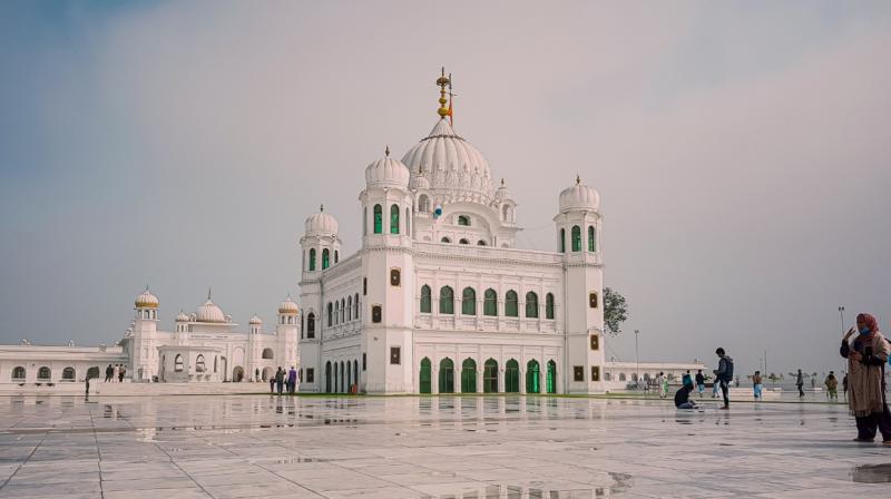
[[[564,254],[562,297],[566,365],[558,391],[603,391],[604,273],[600,257],[600,196],[576,177],[560,193],[560,213],[554,217],[558,251]],[[559,317],[558,317],[559,319]]]

